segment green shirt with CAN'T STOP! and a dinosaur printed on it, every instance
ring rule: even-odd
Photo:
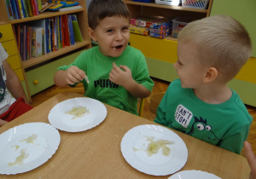
[[[253,117],[239,95],[232,92],[228,101],[212,105],[197,98],[193,89],[183,89],[179,79],[174,80],[160,102],[154,122],[241,153]]]

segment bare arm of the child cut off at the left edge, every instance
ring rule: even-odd
[[[3,68],[6,72],[6,86],[9,92],[15,97],[15,99],[23,97],[26,104],[29,104],[29,101],[27,100],[26,94],[20,83],[20,79],[17,77],[11,66],[9,66],[8,61],[3,61]]]

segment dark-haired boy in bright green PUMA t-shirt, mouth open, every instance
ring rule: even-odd
[[[88,33],[99,46],[88,49],[55,73],[55,84],[84,84],[84,95],[137,114],[137,98],[148,97],[154,82],[145,57],[128,45],[130,14],[121,0],[92,0]],[[85,81],[86,76],[89,80]],[[89,83],[90,82],[90,83]]]

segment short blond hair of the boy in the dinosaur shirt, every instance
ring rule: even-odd
[[[201,65],[217,68],[225,81],[234,78],[252,54],[247,30],[227,15],[190,22],[179,32],[177,42],[196,45]]]

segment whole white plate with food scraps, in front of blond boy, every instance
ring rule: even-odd
[[[166,145],[171,148],[171,153],[166,156],[160,149],[158,153],[148,156],[148,137],[154,137],[154,141],[174,141]],[[188,149],[176,133],[152,124],[139,125],[129,130],[121,141],[121,152],[132,167],[153,176],[170,175],[183,168],[188,159]]]

